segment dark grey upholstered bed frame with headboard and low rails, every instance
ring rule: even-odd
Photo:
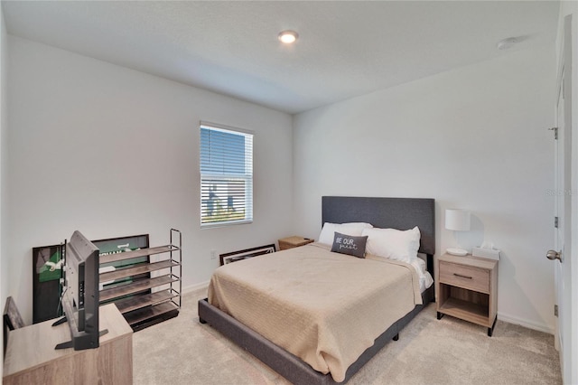
[[[427,257],[427,270],[432,277],[433,254],[435,253],[435,208],[433,199],[422,198],[367,198],[367,197],[322,197],[322,223],[345,223],[364,221],[378,228],[409,230],[415,226],[421,232],[419,252]],[[429,302],[435,300],[434,286],[422,293],[424,305],[415,305],[414,310],[387,328],[348,368],[345,383],[363,367],[390,340],[397,341],[399,332]],[[337,384],[331,374],[322,374],[303,362],[294,354],[271,343],[269,340],[241,324],[232,316],[209,304],[207,298],[199,301],[199,321],[209,323],[238,346],[253,354],[271,369],[294,384]]]

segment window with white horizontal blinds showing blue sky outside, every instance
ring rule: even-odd
[[[200,227],[253,221],[253,134],[200,123]]]

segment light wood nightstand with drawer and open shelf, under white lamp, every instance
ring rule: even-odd
[[[444,254],[437,263],[437,319],[452,315],[480,324],[491,337],[498,315],[498,261]]]

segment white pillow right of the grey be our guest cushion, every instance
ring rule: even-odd
[[[412,263],[417,258],[420,232],[417,226],[411,230],[363,229],[361,235],[368,236],[366,252],[378,257]]]

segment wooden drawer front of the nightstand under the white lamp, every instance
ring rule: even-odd
[[[440,261],[440,282],[489,293],[489,270]]]

